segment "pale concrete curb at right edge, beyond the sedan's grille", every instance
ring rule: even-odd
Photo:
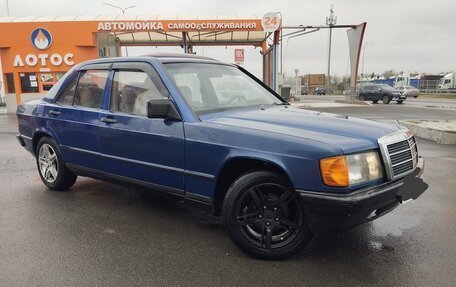
[[[409,128],[417,137],[432,140],[440,144],[456,144],[456,128],[454,130],[443,128],[426,127],[420,123],[444,122],[444,121],[406,121],[404,126]],[[453,121],[456,125],[456,121]]]

